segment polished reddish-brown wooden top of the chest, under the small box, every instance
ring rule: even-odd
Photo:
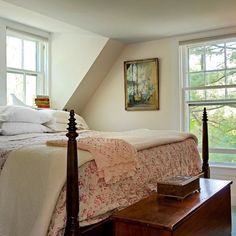
[[[182,201],[158,197],[156,193],[153,193],[148,198],[114,214],[114,218],[118,221],[139,222],[155,228],[171,230],[180,223],[181,219],[192,214],[231,183],[232,181],[201,178],[201,191],[193,193]]]

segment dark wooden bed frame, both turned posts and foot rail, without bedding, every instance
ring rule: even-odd
[[[202,128],[202,176],[210,177],[209,170],[209,151],[208,151],[208,129],[206,108],[203,111],[203,128]],[[79,227],[79,189],[78,189],[78,167],[77,167],[77,142],[76,142],[76,123],[74,111],[70,112],[68,128],[68,151],[67,151],[67,195],[66,195],[66,236],[78,235],[112,235],[112,220],[110,218],[94,224],[92,226]]]

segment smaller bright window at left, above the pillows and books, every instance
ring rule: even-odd
[[[27,105],[36,95],[48,95],[47,40],[7,30],[7,103],[11,94]]]

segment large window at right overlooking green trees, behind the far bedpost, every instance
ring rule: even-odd
[[[181,55],[185,130],[201,140],[206,107],[210,162],[236,164],[236,39],[183,45]]]

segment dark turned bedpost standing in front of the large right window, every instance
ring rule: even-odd
[[[204,107],[203,117],[202,117],[202,172],[204,173],[204,178],[210,178],[210,168],[209,168],[209,147],[208,147],[208,127],[207,127],[207,112]]]

